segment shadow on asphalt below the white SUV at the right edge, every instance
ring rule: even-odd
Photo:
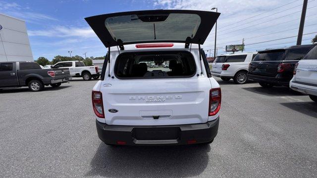
[[[317,103],[312,102],[288,102],[280,103],[281,105],[288,107],[294,111],[302,114],[317,118]]]

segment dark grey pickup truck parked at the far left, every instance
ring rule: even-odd
[[[28,86],[31,91],[41,91],[69,80],[68,69],[42,69],[36,62],[0,62],[0,89]]]

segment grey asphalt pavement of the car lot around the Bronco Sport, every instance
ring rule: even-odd
[[[285,87],[222,90],[210,145],[107,146],[91,90],[75,79],[41,92],[0,91],[0,177],[317,177],[317,104]]]

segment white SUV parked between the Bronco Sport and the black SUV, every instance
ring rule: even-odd
[[[249,64],[257,54],[246,52],[217,56],[211,65],[211,75],[223,81],[233,79],[235,84],[245,84],[248,81]]]

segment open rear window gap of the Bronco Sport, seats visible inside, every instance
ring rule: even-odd
[[[189,52],[123,53],[116,60],[114,73],[118,78],[192,77],[196,64]]]

